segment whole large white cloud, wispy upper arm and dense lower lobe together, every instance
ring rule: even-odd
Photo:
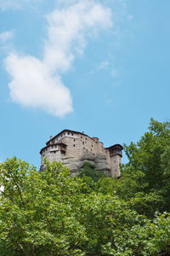
[[[4,61],[12,78],[8,84],[13,102],[41,108],[55,116],[70,113],[70,91],[61,80],[77,55],[83,54],[88,37],[112,26],[111,9],[93,1],[79,1],[47,16],[48,37],[42,60],[12,53]]]

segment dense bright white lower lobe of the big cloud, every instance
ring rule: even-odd
[[[63,116],[72,111],[71,95],[59,75],[52,76],[37,58],[16,54],[5,61],[13,77],[8,84],[14,102],[29,108],[42,108],[48,113]]]

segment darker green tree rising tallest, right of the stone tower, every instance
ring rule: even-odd
[[[113,181],[116,195],[150,218],[170,212],[170,123],[150,119],[149,131],[124,148],[128,163]]]

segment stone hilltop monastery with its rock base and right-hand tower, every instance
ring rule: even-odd
[[[49,162],[61,161],[77,175],[83,162],[95,164],[97,171],[104,171],[110,177],[120,177],[122,145],[115,144],[104,148],[98,137],[88,137],[84,132],[63,130],[55,137],[50,137],[46,146],[41,149],[41,170],[45,168],[43,159]]]

